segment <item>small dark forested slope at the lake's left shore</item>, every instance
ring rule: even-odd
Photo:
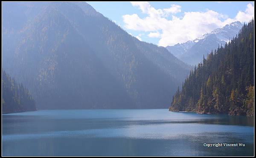
[[[35,100],[22,84],[2,71],[2,113],[35,111]]]

